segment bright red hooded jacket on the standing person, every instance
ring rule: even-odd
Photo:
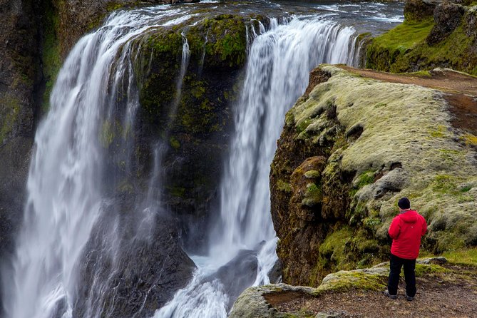
[[[394,217],[388,231],[393,239],[391,254],[406,260],[415,260],[419,255],[421,236],[426,234],[426,230],[426,220],[414,210]]]

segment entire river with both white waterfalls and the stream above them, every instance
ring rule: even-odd
[[[11,269],[2,272],[6,317],[79,317],[74,312],[81,297],[79,262],[93,227],[109,205],[104,190],[108,187],[103,184],[108,182],[108,158],[98,133],[103,118],[114,116],[118,108],[123,126],[133,126],[140,107],[132,71],[137,52],[130,43],[153,26],[194,24],[202,19],[200,9],[260,12],[269,16],[270,23],[250,24],[247,29],[245,81],[239,101],[232,105],[235,133],[218,185],[220,220],[210,226],[209,244],[202,248],[207,253],[189,255],[198,267],[193,279],[154,317],[226,317],[243,289],[270,283],[277,238],[268,178],[284,115],[307,87],[309,71],[319,63],[358,66],[357,36],[377,34],[401,22],[400,4],[204,1],[119,11],[84,36],[63,64],[51,94],[51,109],[36,131],[24,225]],[[187,34],[183,34],[182,54],[176,96],[189,63]],[[128,96],[120,105],[114,98],[119,89]],[[125,138],[122,147],[132,147],[130,142]],[[160,144],[155,145],[154,158],[151,180],[160,179]],[[160,198],[153,200],[152,188],[140,202],[140,210],[145,211],[137,227],[141,235],[148,233],[145,226],[153,222],[148,211],[160,207]],[[106,232],[113,234],[103,237],[109,252],[120,248],[115,226],[112,222]],[[85,302],[88,308],[81,317],[110,317],[104,316],[108,310],[103,307],[114,304],[101,297],[112,291],[104,291],[104,286],[99,279],[88,287],[98,289],[88,292],[97,297]]]

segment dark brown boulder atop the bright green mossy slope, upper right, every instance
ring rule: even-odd
[[[443,41],[460,24],[465,13],[463,6],[444,2],[434,10],[434,27],[426,38],[426,42],[432,46]]]

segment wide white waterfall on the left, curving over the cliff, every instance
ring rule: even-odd
[[[11,269],[2,272],[6,317],[72,317],[81,284],[78,261],[109,204],[103,189],[101,130],[105,119],[114,125],[118,118],[116,96],[127,96],[119,117],[124,118],[123,139],[128,142],[139,105],[130,43],[153,26],[174,24],[169,16],[179,14],[178,21],[184,21],[180,11],[168,9],[113,14],[76,44],[58,73],[51,109],[36,132],[16,255]],[[115,229],[112,224],[111,237],[103,238],[112,254],[118,248]],[[86,317],[99,317],[100,300],[87,300]]]

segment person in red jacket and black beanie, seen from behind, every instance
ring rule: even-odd
[[[404,266],[406,280],[406,299],[413,300],[416,295],[416,258],[419,255],[421,237],[426,234],[427,224],[422,215],[411,210],[408,198],[398,201],[399,215],[396,215],[389,226],[391,259],[389,262],[388,289],[384,292],[391,299],[397,298],[399,275]]]

